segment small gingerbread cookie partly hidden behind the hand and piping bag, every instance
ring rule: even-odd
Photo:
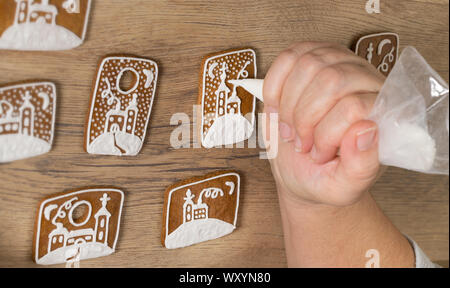
[[[367,35],[356,44],[356,54],[388,76],[398,59],[399,37],[395,33]]]

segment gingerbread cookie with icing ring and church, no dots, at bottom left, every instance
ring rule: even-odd
[[[119,236],[124,194],[112,188],[50,196],[39,204],[33,259],[51,265],[107,256]]]

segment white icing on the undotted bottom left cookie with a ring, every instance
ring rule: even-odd
[[[62,223],[57,222],[59,218],[65,218],[68,217],[69,221],[71,221],[71,212],[73,209],[77,206],[77,203],[82,202],[82,204],[86,204],[85,200],[75,202],[72,204],[72,202],[76,201],[78,197],[76,195],[78,194],[84,194],[89,192],[99,192],[99,191],[105,191],[103,194],[103,197],[99,199],[99,201],[102,202],[102,207],[95,213],[93,216],[95,218],[95,225],[91,228],[86,229],[78,229],[78,230],[72,230],[69,231],[66,229]],[[117,229],[116,229],[116,235],[114,238],[114,242],[112,247],[108,246],[107,238],[108,238],[108,223],[109,218],[111,217],[111,214],[109,213],[107,209],[107,202],[111,200],[111,198],[108,197],[107,192],[109,193],[120,193],[121,195],[121,202],[120,202],[120,208],[119,208],[119,215],[118,215],[118,222],[117,222]],[[52,223],[56,226],[56,228],[51,231],[48,235],[49,241],[48,241],[48,248],[47,248],[47,254],[39,258],[39,239],[40,239],[40,229],[41,229],[41,219],[43,213],[50,213],[48,212],[48,208],[44,207],[46,206],[46,203],[60,199],[60,198],[66,198],[68,196],[75,196],[71,198],[70,200],[64,202],[62,205],[59,206],[57,213],[52,219]],[[119,228],[120,228],[120,218],[122,214],[122,206],[123,206],[123,198],[124,194],[122,191],[117,189],[88,189],[88,190],[82,190],[77,191],[73,193],[69,193],[66,195],[57,196],[51,199],[47,199],[44,202],[42,202],[40,209],[39,209],[39,215],[38,215],[38,228],[37,228],[37,240],[36,240],[36,246],[35,251],[36,254],[34,255],[35,261],[38,264],[41,265],[52,265],[52,264],[60,264],[65,262],[78,262],[80,260],[84,259],[90,259],[90,258],[97,258],[102,256],[107,256],[112,254],[115,251],[118,235],[119,235]],[[87,202],[89,203],[89,202]],[[91,206],[92,204],[89,203]],[[52,210],[54,209],[54,205],[52,206]],[[66,211],[69,210],[69,214],[67,215]],[[44,215],[46,216],[46,215]],[[91,213],[89,213],[87,219],[91,220]],[[46,217],[46,219],[48,219]],[[99,226],[99,220],[105,220],[106,224],[104,227]],[[86,221],[87,223],[88,221]],[[76,226],[76,225],[74,225]],[[102,239],[98,235],[102,235]],[[61,247],[58,247],[62,245]],[[53,249],[53,247],[58,247],[56,249]]]

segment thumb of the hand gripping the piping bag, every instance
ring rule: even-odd
[[[354,123],[342,139],[336,176],[362,192],[373,183],[379,168],[377,124],[368,120]]]

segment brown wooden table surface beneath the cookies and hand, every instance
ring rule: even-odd
[[[35,267],[33,225],[41,198],[74,188],[114,185],[126,192],[115,254],[82,267],[285,267],[278,199],[261,149],[179,149],[169,138],[174,113],[192,115],[205,54],[253,47],[263,77],[294,41],[350,47],[362,35],[392,31],[415,46],[448,81],[448,0],[381,0],[369,15],[349,1],[97,0],[86,42],[63,52],[0,50],[0,83],[43,78],[57,83],[56,137],[50,153],[0,165],[0,267]],[[131,53],[160,68],[147,138],[137,157],[93,156],[83,150],[85,115],[98,60]],[[261,111],[261,106],[258,110]],[[175,181],[218,169],[243,176],[238,228],[184,249],[160,244],[163,193]],[[448,265],[448,177],[389,168],[372,189],[385,213],[434,261]],[[57,265],[63,267],[64,265]]]

